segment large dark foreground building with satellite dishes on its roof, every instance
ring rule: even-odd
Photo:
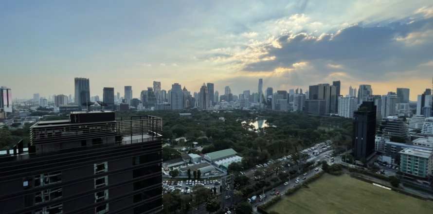
[[[161,132],[161,118],[112,111],[37,122],[28,151],[0,157],[1,213],[161,212]]]

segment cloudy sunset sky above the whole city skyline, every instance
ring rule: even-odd
[[[224,93],[341,80],[374,94],[433,77],[431,0],[3,0],[0,86],[14,98],[74,92],[74,77],[133,96],[160,81]]]

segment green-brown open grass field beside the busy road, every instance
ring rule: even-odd
[[[432,214],[433,201],[423,201],[373,184],[325,174],[267,209],[280,214]]]

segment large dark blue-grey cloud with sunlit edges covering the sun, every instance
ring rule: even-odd
[[[433,59],[432,32],[433,18],[427,18],[387,26],[354,25],[322,36],[281,36],[277,39],[281,48],[267,46],[268,54],[261,56],[275,60],[247,64],[243,70],[274,71],[307,61],[316,69],[332,63],[343,65],[346,72],[367,75],[407,71]]]

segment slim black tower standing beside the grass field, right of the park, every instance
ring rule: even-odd
[[[353,153],[356,159],[367,158],[374,152],[376,135],[376,107],[365,101],[354,112]]]

